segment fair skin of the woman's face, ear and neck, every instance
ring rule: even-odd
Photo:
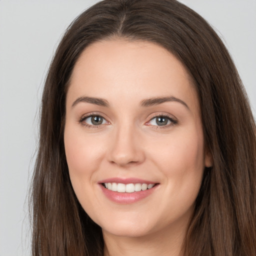
[[[105,99],[108,106],[77,102],[84,96]],[[141,106],[144,99],[169,96],[177,100]],[[88,126],[89,114],[102,116],[102,124]],[[160,126],[154,118],[159,115],[174,121]],[[197,94],[180,61],[150,42],[89,45],[67,91],[64,145],[75,194],[102,227],[104,255],[179,254],[204,166],[212,162]],[[159,184],[142,200],[120,204],[98,184],[110,177]]]

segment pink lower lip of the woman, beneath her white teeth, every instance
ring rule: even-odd
[[[155,188],[158,186],[158,184],[156,184],[150,189],[141,190],[141,191],[132,192],[132,193],[127,193],[127,192],[123,193],[123,192],[112,191],[112,190],[105,188],[101,184],[99,184],[99,185],[100,185],[102,192],[108,199],[110,199],[113,202],[122,203],[122,204],[128,204],[128,203],[140,201],[143,198],[149,196],[155,190]]]

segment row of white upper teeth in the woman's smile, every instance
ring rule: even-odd
[[[123,193],[124,192],[132,193],[135,191],[138,192],[141,190],[152,188],[154,186],[154,184],[145,184],[145,183],[123,184],[123,183],[115,183],[115,182],[104,183],[104,185],[109,190],[123,192]]]

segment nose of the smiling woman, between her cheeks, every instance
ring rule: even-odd
[[[145,159],[142,139],[132,125],[122,125],[113,131],[108,160],[119,166],[136,165]]]

